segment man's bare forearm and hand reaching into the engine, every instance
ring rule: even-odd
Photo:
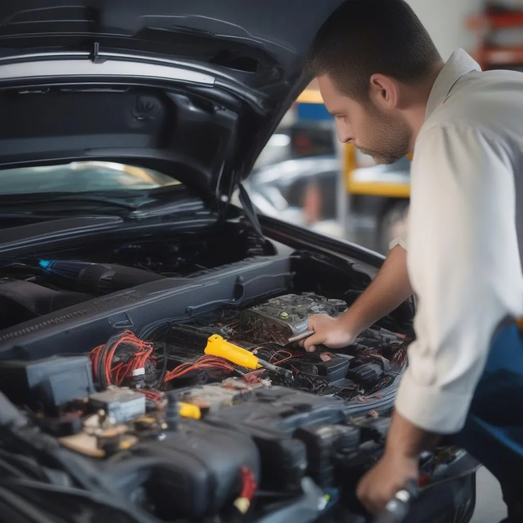
[[[315,350],[320,344],[333,349],[346,347],[358,334],[401,305],[412,294],[406,260],[405,249],[396,245],[376,278],[347,312],[335,320],[323,314],[311,316],[309,329],[316,333],[304,340],[305,349]]]

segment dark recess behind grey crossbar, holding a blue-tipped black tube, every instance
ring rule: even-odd
[[[228,237],[234,236],[234,242]],[[274,254],[241,224],[141,241],[100,240],[38,257],[0,259],[0,329],[95,297]]]

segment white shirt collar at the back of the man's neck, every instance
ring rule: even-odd
[[[430,91],[425,120],[447,99],[454,84],[471,71],[481,71],[477,62],[463,49],[454,51],[439,72]]]

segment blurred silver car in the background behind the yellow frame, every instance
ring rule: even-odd
[[[259,213],[343,237],[337,212],[340,175],[338,156],[314,155],[262,165],[253,170],[244,185]],[[392,165],[360,167],[353,170],[351,180],[358,187],[380,183],[408,185],[410,162],[403,158]],[[305,205],[311,191],[317,191],[319,207],[313,221],[308,219]],[[387,254],[391,241],[405,231],[408,199],[358,193],[347,198],[350,238]]]

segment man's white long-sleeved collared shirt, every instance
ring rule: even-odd
[[[441,70],[415,144],[407,238],[416,340],[396,408],[451,434],[497,325],[523,315],[523,73],[481,72],[462,50]]]

